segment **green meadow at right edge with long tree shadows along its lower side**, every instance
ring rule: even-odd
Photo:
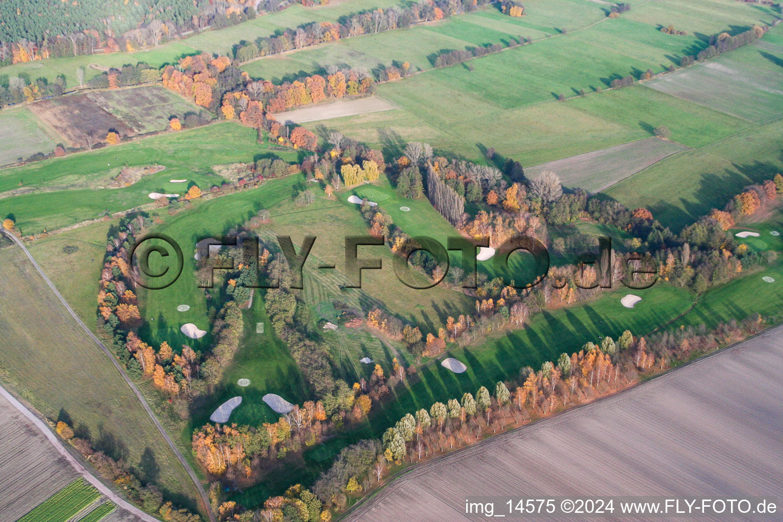
[[[783,121],[666,158],[610,187],[629,208],[647,207],[673,230],[723,206],[745,185],[770,179],[783,167]]]

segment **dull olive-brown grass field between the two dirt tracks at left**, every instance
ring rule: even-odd
[[[70,416],[77,434],[131,466],[149,450],[159,469],[152,481],[190,505],[193,484],[138,400],[16,247],[0,250],[0,296],[5,383],[41,414]]]

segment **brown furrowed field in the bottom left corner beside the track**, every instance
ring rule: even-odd
[[[78,478],[41,431],[0,396],[0,522],[14,522]]]

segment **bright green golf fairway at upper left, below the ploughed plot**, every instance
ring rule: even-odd
[[[194,145],[197,153],[193,152]],[[174,185],[168,180],[172,178],[187,178],[208,189],[222,182],[222,178],[212,173],[211,165],[251,162],[267,156],[295,160],[298,153],[294,149],[270,150],[269,143],[256,141],[254,129],[232,122],[124,142],[0,171],[0,192],[20,186],[73,187],[2,199],[0,214],[4,217],[13,214],[16,225],[25,234],[57,229],[99,218],[106,211],[123,211],[151,203],[149,193],[171,192]],[[112,167],[152,164],[164,165],[166,169],[122,189],[88,189],[92,181],[106,179],[113,172]]]

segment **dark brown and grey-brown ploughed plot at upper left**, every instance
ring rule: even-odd
[[[159,85],[87,92],[45,99],[28,108],[69,146],[85,148],[103,142],[106,133],[121,138],[164,131],[171,117],[208,113]]]

